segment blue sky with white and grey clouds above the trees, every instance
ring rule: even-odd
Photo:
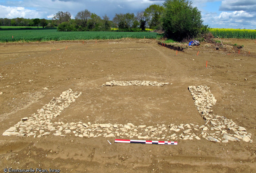
[[[0,0],[0,18],[16,17],[52,19],[58,11],[68,11],[71,18],[82,10],[89,10],[110,20],[115,13],[144,11],[151,4],[162,5],[163,0]],[[211,28],[256,29],[256,0],[191,0],[201,11],[205,25]],[[189,14],[188,14],[189,15]]]

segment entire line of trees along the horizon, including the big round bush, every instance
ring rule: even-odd
[[[112,21],[105,14],[100,17],[89,10],[79,11],[75,19],[66,11],[56,13],[53,20],[45,19],[0,19],[0,25],[58,27],[58,31],[144,31],[146,28],[164,30],[167,38],[190,40],[209,33],[203,25],[201,12],[188,0],[165,0],[163,5],[150,5],[144,11],[116,13]],[[139,29],[139,30],[134,30]],[[209,35],[209,34],[208,34]]]

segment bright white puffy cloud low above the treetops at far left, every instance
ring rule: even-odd
[[[40,16],[41,15],[36,10],[29,10],[24,7],[10,7],[0,5],[0,17],[2,18],[39,18]]]

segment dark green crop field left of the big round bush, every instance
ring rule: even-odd
[[[154,32],[58,32],[56,29],[1,30],[0,42],[107,40],[120,38],[156,38]]]

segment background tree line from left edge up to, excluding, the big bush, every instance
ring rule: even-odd
[[[105,31],[111,28],[120,30],[132,29],[162,29],[160,15],[163,11],[163,6],[150,5],[144,11],[134,13],[116,13],[113,20],[105,14],[100,17],[89,10],[79,11],[75,19],[71,19],[71,14],[66,11],[58,11],[52,20],[46,19],[24,19],[15,18],[7,19],[0,18],[1,26],[42,26],[42,27],[58,27],[58,30],[66,31]]]

